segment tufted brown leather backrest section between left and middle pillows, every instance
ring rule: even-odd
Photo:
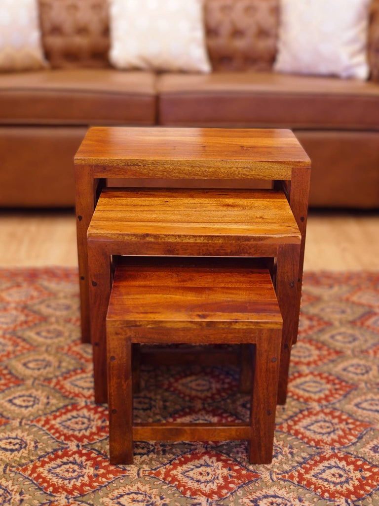
[[[107,0],[39,0],[42,41],[53,68],[108,67]]]

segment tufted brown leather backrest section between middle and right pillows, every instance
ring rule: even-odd
[[[278,0],[206,0],[205,20],[213,70],[271,70]]]

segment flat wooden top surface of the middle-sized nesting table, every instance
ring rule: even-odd
[[[88,237],[101,239],[185,235],[301,240],[287,198],[278,190],[106,188],[88,228]]]

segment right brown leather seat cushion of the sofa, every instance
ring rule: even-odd
[[[370,81],[258,72],[162,74],[163,125],[379,129]]]

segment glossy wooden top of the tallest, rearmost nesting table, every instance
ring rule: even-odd
[[[127,168],[131,178],[153,170],[148,177],[272,179],[272,174],[265,177],[249,171],[276,167],[281,169],[277,179],[285,179],[291,168],[310,166],[309,157],[290,130],[163,127],[91,128],[75,163]],[[197,173],[199,168],[201,174]],[[211,173],[204,173],[207,168]]]

